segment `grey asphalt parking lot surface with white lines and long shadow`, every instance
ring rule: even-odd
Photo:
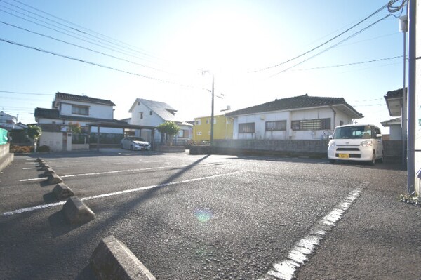
[[[37,157],[94,220],[66,221]],[[396,202],[405,189],[406,172],[388,164],[122,149],[15,156],[0,174],[0,278],[93,279],[89,259],[112,235],[156,279],[269,279],[298,241],[346,204],[294,275],[366,279],[373,270],[378,277],[370,279],[417,279],[410,267],[421,261],[420,227],[413,227],[420,211]],[[402,226],[406,236],[398,235]],[[367,232],[381,246],[368,246]]]

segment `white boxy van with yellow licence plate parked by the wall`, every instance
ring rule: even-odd
[[[331,163],[345,161],[383,161],[383,142],[380,128],[372,124],[337,126],[328,144]]]

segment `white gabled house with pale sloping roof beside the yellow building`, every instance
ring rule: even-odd
[[[192,124],[177,119],[175,116],[177,110],[165,102],[136,98],[128,112],[131,113],[129,121],[131,125],[156,127],[163,122],[174,121],[180,127],[178,135],[175,135],[175,140],[182,142],[192,140]],[[154,139],[152,139],[152,131],[150,130],[135,131],[135,135],[149,142],[161,141],[161,133],[158,131],[155,131]]]

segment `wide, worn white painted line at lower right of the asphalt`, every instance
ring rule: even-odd
[[[364,183],[363,185],[366,185]],[[359,187],[352,192],[349,192],[345,199],[342,199],[335,208],[330,211],[327,215],[319,219],[309,234],[297,241],[291,251],[288,253],[287,258],[281,262],[276,262],[272,269],[270,269],[265,275],[260,277],[259,280],[291,280],[295,278],[295,272],[300,268],[306,261],[308,261],[309,255],[314,253],[316,246],[320,245],[320,241],[326,236],[328,231],[335,227],[336,222],[342,219],[345,211],[354,204],[356,199],[359,198],[364,187]]]

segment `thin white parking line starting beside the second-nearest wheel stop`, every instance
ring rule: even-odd
[[[224,173],[224,174],[211,175],[211,176],[206,176],[206,177],[201,177],[201,178],[182,180],[182,181],[178,181],[178,182],[168,182],[168,183],[165,183],[165,184],[151,185],[151,186],[147,186],[147,187],[137,187],[135,189],[126,189],[126,190],[119,191],[119,192],[109,192],[107,194],[98,194],[98,195],[95,195],[95,196],[83,197],[83,198],[81,198],[81,200],[101,199],[101,198],[108,197],[108,196],[116,196],[116,195],[119,195],[119,194],[128,194],[128,193],[131,193],[131,192],[140,192],[140,191],[143,191],[143,190],[146,190],[146,189],[155,189],[155,188],[158,188],[158,187],[168,187],[168,186],[171,186],[171,185],[178,185],[178,184],[183,184],[183,183],[187,183],[187,182],[196,182],[196,181],[207,180],[207,179],[211,179],[211,178],[218,178],[218,177],[227,176],[227,175],[234,175],[234,174],[243,173],[243,172],[246,172],[246,171],[236,171],[236,172],[231,172],[231,173]],[[60,201],[60,202],[56,202],[56,203],[53,203],[53,204],[41,204],[41,205],[37,205],[37,206],[33,206],[33,207],[20,208],[20,209],[14,210],[14,211],[5,212],[1,215],[10,216],[10,215],[15,215],[15,214],[19,214],[19,213],[32,212],[32,211],[50,208],[50,207],[54,207],[54,206],[64,205],[65,203],[66,203],[66,201]]]

